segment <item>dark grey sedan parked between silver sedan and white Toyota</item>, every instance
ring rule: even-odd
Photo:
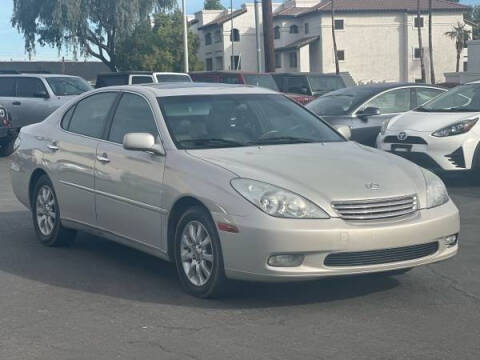
[[[382,124],[395,115],[423,105],[445,89],[418,84],[386,83],[332,91],[307,105],[332,125],[347,125],[352,139],[375,146]]]

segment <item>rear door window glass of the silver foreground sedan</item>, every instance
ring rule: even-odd
[[[101,138],[108,114],[118,93],[108,92],[89,96],[77,104],[68,130],[76,134]]]

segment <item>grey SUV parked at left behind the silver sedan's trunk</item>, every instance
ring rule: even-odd
[[[44,120],[73,97],[92,90],[82,78],[54,74],[0,75],[0,105],[8,110],[8,130],[3,125],[3,155],[11,151],[15,135],[25,125]],[[2,120],[3,121],[3,120]]]

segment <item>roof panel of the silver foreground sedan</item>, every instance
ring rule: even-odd
[[[278,94],[277,92],[250,85],[231,85],[220,83],[153,83],[142,85],[109,86],[99,90],[137,90],[148,91],[156,97],[183,95],[221,95],[221,94]]]

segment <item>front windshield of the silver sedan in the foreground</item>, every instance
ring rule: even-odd
[[[158,102],[179,149],[344,141],[283,95],[171,96]]]

